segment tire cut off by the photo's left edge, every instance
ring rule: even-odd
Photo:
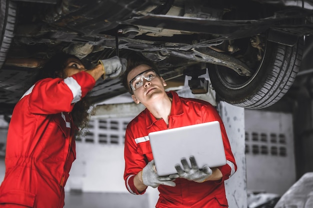
[[[15,2],[0,0],[0,68],[6,59],[6,54],[14,37],[15,19]]]

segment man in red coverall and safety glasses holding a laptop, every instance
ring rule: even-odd
[[[232,176],[237,167],[215,108],[202,100],[165,92],[166,83],[156,67],[143,58],[128,58],[122,82],[133,101],[146,107],[126,128],[124,180],[127,190],[139,195],[148,186],[158,187],[160,194],[156,208],[228,207],[224,180]],[[177,161],[181,165],[175,166],[176,175],[157,176],[148,134],[210,121],[220,123],[227,164],[217,168],[197,167],[194,158],[190,157],[191,168],[182,159]]]

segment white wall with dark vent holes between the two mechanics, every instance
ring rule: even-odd
[[[66,191],[127,192],[124,180],[124,135],[131,118],[93,119],[76,140],[76,160]],[[128,193],[128,192],[127,192]]]

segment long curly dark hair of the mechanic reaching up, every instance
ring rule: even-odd
[[[77,58],[74,55],[67,54],[64,52],[56,53],[47,62],[39,66],[40,70],[35,78],[35,82],[44,78],[62,78],[64,77],[64,69],[66,67],[66,61],[68,58]],[[80,101],[75,103],[71,116],[73,118],[74,124],[79,128],[83,129],[87,126],[89,120],[88,110],[91,106],[90,103],[91,93],[87,93]]]

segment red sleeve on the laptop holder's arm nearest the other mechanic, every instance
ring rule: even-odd
[[[124,170],[124,180],[125,186],[128,192],[134,195],[144,194],[145,190],[141,193],[137,191],[133,185],[133,178],[137,173],[139,173],[147,163],[147,159],[144,155],[139,154],[137,149],[136,139],[130,130],[129,125],[126,128],[125,133],[125,146],[124,146],[124,159],[125,159],[125,170]],[[142,142],[140,145],[150,145],[148,142]]]

